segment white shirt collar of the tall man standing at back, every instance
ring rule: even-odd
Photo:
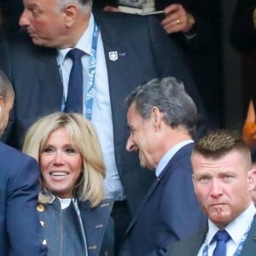
[[[93,30],[94,30],[94,15],[90,14],[90,20],[89,20],[89,26],[84,31],[81,38],[79,38],[79,41],[74,46],[74,48],[78,48],[83,50],[87,55],[90,55],[91,50],[91,44],[92,44],[92,36],[93,36]],[[67,52],[72,48],[65,48],[65,49],[58,49],[58,57],[61,64],[65,61],[65,57],[67,55]]]

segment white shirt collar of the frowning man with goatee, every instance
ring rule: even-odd
[[[230,224],[225,227],[225,230],[230,234],[231,239],[238,245],[241,241],[241,237],[246,234],[249,224],[252,223],[256,210],[253,202],[247,207],[244,212],[236,217]],[[207,244],[212,241],[213,236],[218,232],[218,227],[208,220],[209,230],[207,233]]]

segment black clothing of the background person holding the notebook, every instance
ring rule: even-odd
[[[245,0],[252,1],[252,0]],[[94,0],[96,8],[118,5],[118,0]],[[212,127],[221,125],[224,117],[222,96],[222,40],[221,1],[216,0],[154,0],[155,9],[162,10],[172,3],[180,3],[195,18],[195,26],[186,37],[182,32],[169,35],[172,41],[183,49],[189,72],[195,79]],[[155,15],[162,20],[165,15]],[[191,34],[195,35],[191,37]],[[255,45],[255,44],[254,44]],[[223,115],[223,116],[222,116]]]

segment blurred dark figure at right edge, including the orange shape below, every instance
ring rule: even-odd
[[[256,1],[237,0],[230,28],[230,42],[240,53],[242,76],[242,136],[256,160]]]

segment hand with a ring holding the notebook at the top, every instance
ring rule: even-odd
[[[194,26],[195,19],[187,13],[183,6],[178,3],[173,3],[164,9],[166,18],[161,21],[168,34],[173,32],[189,32]]]

